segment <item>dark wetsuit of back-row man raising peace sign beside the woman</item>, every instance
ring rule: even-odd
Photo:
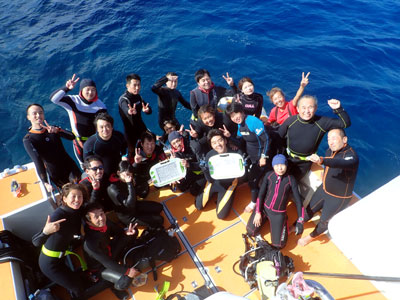
[[[205,92],[196,87],[190,91],[190,107],[192,109],[193,116],[197,118],[197,112],[203,105],[209,104],[217,109],[219,99],[231,96],[233,97],[237,92],[236,86],[226,89],[222,86],[213,86],[210,91]]]

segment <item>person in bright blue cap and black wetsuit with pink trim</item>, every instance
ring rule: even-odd
[[[290,193],[293,195],[298,215],[295,227],[296,234],[303,232],[304,208],[296,179],[286,172],[286,157],[282,154],[275,155],[272,159],[272,167],[274,170],[265,174],[261,183],[256,209],[247,222],[246,228],[248,234],[256,236],[260,233],[261,226],[268,219],[272,245],[283,248],[288,238],[286,207]]]

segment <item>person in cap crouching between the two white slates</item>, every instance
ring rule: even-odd
[[[182,163],[186,168],[186,177],[173,184],[171,186],[172,189],[174,190],[176,185],[182,192],[189,190],[193,196],[197,196],[205,185],[205,179],[196,155],[190,148],[188,133],[185,131],[172,131],[168,135],[168,141],[171,145],[172,157],[182,159]]]

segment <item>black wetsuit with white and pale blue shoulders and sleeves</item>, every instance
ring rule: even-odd
[[[97,98],[85,100],[81,95],[66,95],[70,89],[62,87],[50,96],[51,102],[62,106],[67,112],[72,132],[75,134],[74,152],[80,163],[83,162],[83,144],[96,133],[93,121],[99,112],[106,110],[105,104]]]

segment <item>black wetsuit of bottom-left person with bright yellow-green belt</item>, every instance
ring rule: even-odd
[[[60,230],[45,235],[42,231],[37,233],[32,238],[32,243],[36,247],[41,247],[43,244],[46,249],[51,251],[66,251],[68,250],[74,236],[81,234],[81,217],[80,210],[74,210],[67,206],[58,207],[50,216],[51,222],[66,219],[60,223]],[[40,252],[39,266],[43,274],[53,282],[70,290],[75,296],[82,296],[84,293],[84,281],[79,273],[71,271],[66,265],[65,256],[50,257]]]

